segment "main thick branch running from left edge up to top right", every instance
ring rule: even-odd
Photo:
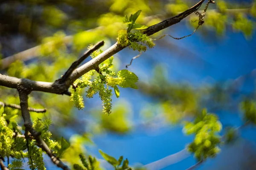
[[[172,26],[176,23],[179,23],[180,20],[187,17],[189,14],[192,14],[194,11],[196,11],[201,4],[204,2],[204,0],[200,0],[195,6],[192,6],[188,10],[178,14],[175,17],[172,17],[170,19],[164,20],[163,22],[160,22],[158,24],[155,24],[153,26],[150,26],[142,32],[147,35],[152,35],[164,28],[167,28],[169,26]],[[127,45],[128,46],[128,45]],[[99,54],[94,59],[91,59],[89,62],[85,63],[79,68],[76,68],[72,74],[67,78],[65,81],[65,84],[61,84],[58,81],[55,81],[54,83],[50,82],[36,82],[29,79],[18,79],[16,77],[9,77],[5,75],[0,74],[0,85],[3,85],[5,87],[9,88],[18,88],[18,85],[23,85],[23,87],[31,88],[31,91],[43,91],[43,92],[49,92],[54,94],[67,94],[70,95],[70,92],[68,92],[68,88],[70,85],[73,84],[73,82],[81,77],[83,74],[87,73],[88,71],[94,69],[97,67],[100,63],[111,57],[113,54],[116,54],[117,52],[121,51],[122,49],[126,48],[127,46],[121,46],[116,42],[114,45],[112,45],[110,48],[108,48],[106,51],[104,51],[102,54]]]

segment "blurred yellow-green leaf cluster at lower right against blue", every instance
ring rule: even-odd
[[[222,125],[218,117],[213,113],[207,113],[204,109],[194,122],[186,122],[183,131],[187,134],[195,134],[195,139],[188,145],[188,151],[195,154],[198,161],[212,158],[220,151],[220,136]]]

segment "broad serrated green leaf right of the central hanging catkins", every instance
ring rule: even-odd
[[[120,87],[122,88],[130,87],[130,88],[138,89],[137,85],[135,85],[134,83],[137,82],[139,78],[133,72],[128,70],[120,70],[118,71],[117,76],[121,77],[124,80],[120,85]]]

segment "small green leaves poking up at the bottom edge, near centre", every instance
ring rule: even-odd
[[[102,152],[102,150],[99,150],[99,153],[106,161],[108,161],[108,163],[110,163],[115,168],[115,170],[131,170],[131,167],[128,166],[128,159],[125,159],[122,163],[123,156],[120,156],[119,159],[116,160],[114,157],[109,156],[107,153]]]

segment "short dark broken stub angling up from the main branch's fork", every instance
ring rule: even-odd
[[[87,57],[90,56],[90,54],[93,53],[93,51],[98,50],[100,47],[102,47],[104,45],[104,41],[98,42],[96,45],[94,45],[92,48],[90,48],[88,51],[86,51],[84,53],[84,55],[82,55],[82,57],[80,57],[79,59],[77,59],[75,62],[72,63],[72,65],[70,66],[70,68],[68,68],[68,70],[66,71],[66,73],[64,74],[64,76],[62,76],[59,80],[59,82],[61,84],[63,84],[68,77],[70,77],[70,75],[72,74],[72,72],[81,64],[81,62],[84,61],[84,59],[86,59]],[[58,81],[57,80],[57,81]]]

